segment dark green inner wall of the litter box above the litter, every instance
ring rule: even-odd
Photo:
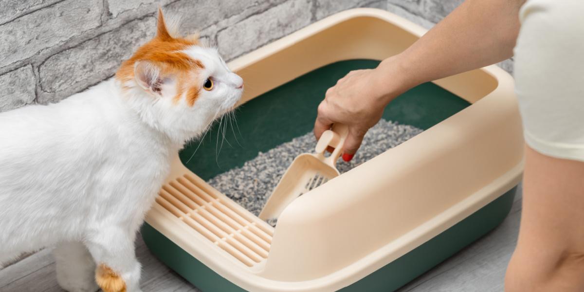
[[[240,167],[258,152],[311,132],[317,117],[315,109],[326,90],[348,72],[375,68],[379,63],[363,59],[333,62],[262,93],[236,110],[237,126],[233,124],[233,131],[228,125],[224,133],[215,123],[203,141],[192,141],[179,152],[180,160],[204,180]],[[385,108],[383,119],[427,130],[470,105],[446,89],[426,82],[394,99]],[[226,142],[223,150],[218,151],[217,141],[223,134]]]

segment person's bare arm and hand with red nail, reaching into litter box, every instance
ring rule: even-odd
[[[375,69],[351,71],[318,107],[317,138],[333,123],[349,126],[343,159],[352,157],[401,93],[423,82],[505,60],[513,55],[524,0],[467,0],[411,47]]]

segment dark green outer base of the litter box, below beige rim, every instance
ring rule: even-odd
[[[499,225],[509,214],[516,189],[517,187],[513,187],[463,221],[340,291],[397,290]],[[201,291],[245,291],[213,272],[150,225],[144,224],[141,234],[148,248],[162,262],[195,284]]]

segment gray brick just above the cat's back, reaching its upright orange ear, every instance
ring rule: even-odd
[[[148,16],[49,57],[39,67],[38,102],[58,101],[112,76],[155,33],[156,20]]]

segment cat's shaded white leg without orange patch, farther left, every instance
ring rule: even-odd
[[[53,250],[57,283],[69,292],[95,292],[95,262],[81,242],[63,242]]]

